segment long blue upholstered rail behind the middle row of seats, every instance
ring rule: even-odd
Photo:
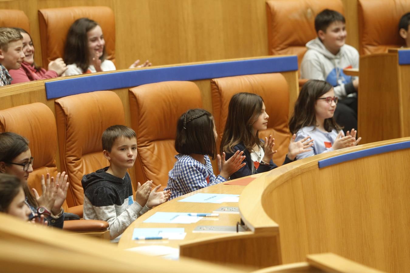
[[[194,81],[220,77],[298,70],[296,56],[129,70],[46,82],[47,99],[139,86],[159,81]]]

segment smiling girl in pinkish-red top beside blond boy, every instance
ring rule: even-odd
[[[13,80],[11,83],[36,81],[61,76],[66,71],[66,64],[62,58],[55,59],[48,64],[48,71],[34,63],[34,46],[30,34],[24,29],[14,27],[23,36],[23,53],[25,55],[21,67],[17,70],[9,70]]]

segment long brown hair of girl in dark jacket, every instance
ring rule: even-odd
[[[262,111],[262,104],[262,97],[253,93],[237,93],[232,97],[223,130],[221,153],[232,153],[233,147],[241,142],[248,151],[255,144],[263,146],[252,126]]]

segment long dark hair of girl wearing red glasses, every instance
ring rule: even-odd
[[[316,111],[314,109],[316,99],[332,88],[333,86],[330,83],[320,80],[309,80],[303,85],[295,102],[293,115],[289,120],[289,130],[292,134],[296,134],[299,129],[305,126],[317,126]],[[326,131],[331,132],[333,129],[339,131],[343,127],[336,123],[334,117],[331,117],[325,120],[324,128]]]

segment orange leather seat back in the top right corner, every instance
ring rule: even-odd
[[[399,21],[409,11],[408,0],[358,0],[360,54],[383,53],[405,45]]]

